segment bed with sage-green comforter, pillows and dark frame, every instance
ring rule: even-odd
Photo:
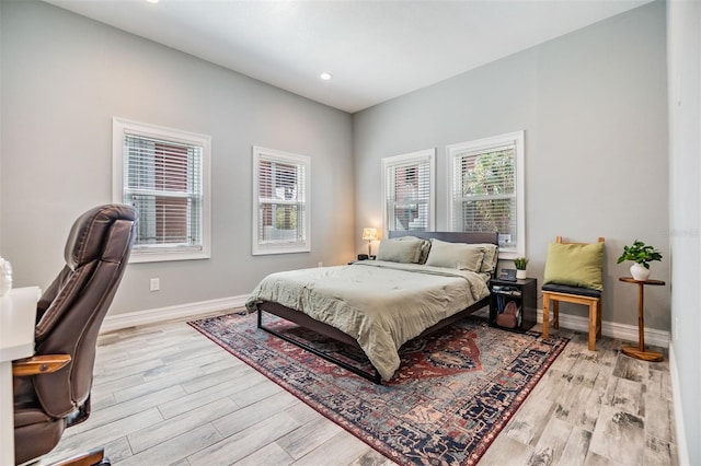
[[[249,312],[257,326],[375,383],[392,377],[399,349],[489,304],[496,233],[390,232],[377,260],[272,273],[255,288]],[[269,313],[359,348],[368,372],[265,326]]]

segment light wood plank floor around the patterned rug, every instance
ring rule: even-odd
[[[480,465],[676,465],[667,360],[560,331],[572,341]],[[99,445],[119,466],[392,464],[184,322],[101,336],[92,407],[42,464]]]

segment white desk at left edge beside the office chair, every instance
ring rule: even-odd
[[[0,296],[0,466],[14,465],[12,361],[34,354],[38,287]]]

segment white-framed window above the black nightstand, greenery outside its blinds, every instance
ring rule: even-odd
[[[448,145],[453,231],[498,232],[499,257],[526,252],[524,131]]]

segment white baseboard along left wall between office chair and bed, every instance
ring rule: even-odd
[[[240,296],[179,304],[175,306],[137,311],[126,314],[107,314],[102,323],[102,327],[100,327],[100,333],[106,334],[108,331],[119,330],[122,328],[134,327],[137,325],[154,324],[157,322],[171,321],[175,318],[196,317],[234,307],[243,307],[248,299],[249,295],[243,294]]]

